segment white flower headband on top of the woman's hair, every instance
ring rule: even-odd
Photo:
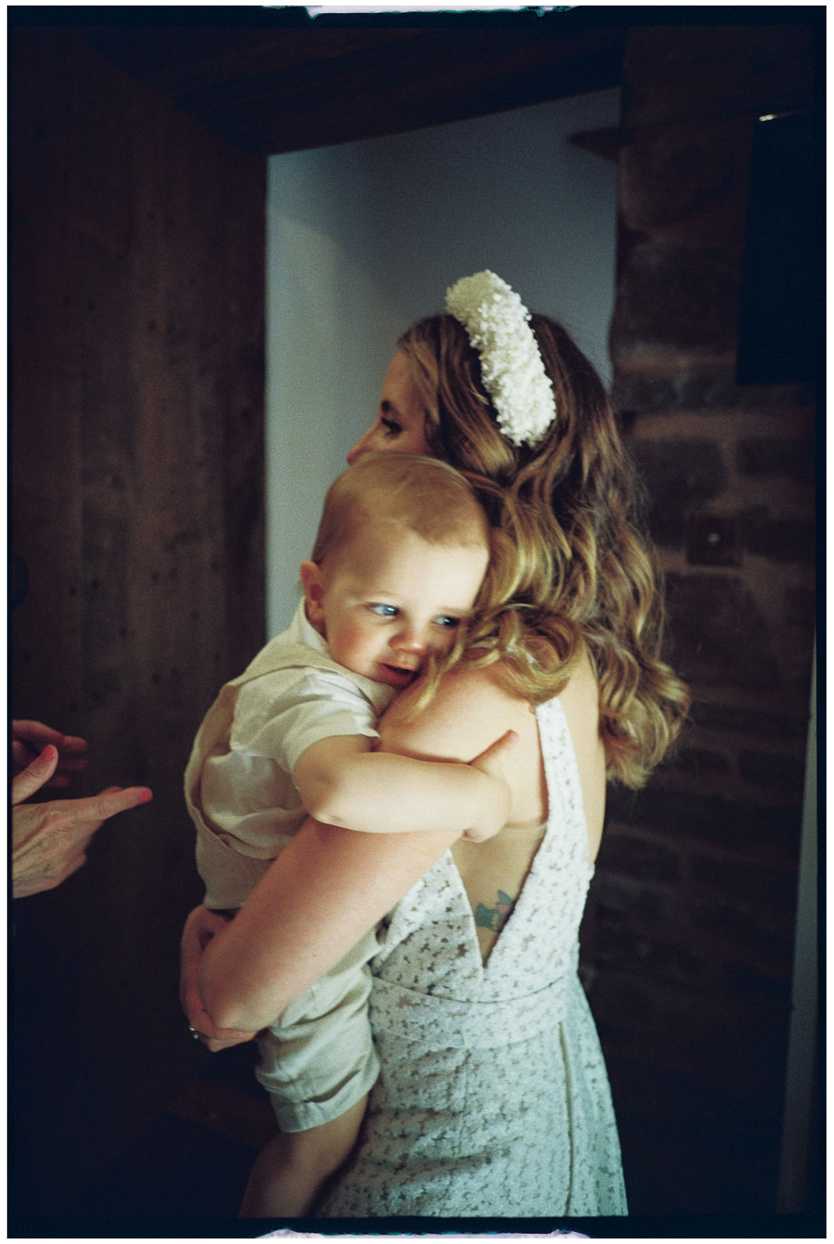
[[[446,291],[446,310],[480,355],[480,376],[503,434],[514,445],[536,445],[556,417],[556,402],[530,312],[515,290],[494,272],[476,272]]]

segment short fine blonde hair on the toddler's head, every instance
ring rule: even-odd
[[[421,454],[367,453],[342,471],[327,489],[312,561],[321,565],[373,522],[396,524],[432,545],[489,546],[472,486]]]

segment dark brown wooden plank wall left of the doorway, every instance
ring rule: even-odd
[[[182,773],[264,639],[265,165],[72,31],[12,36],[12,707],[90,740],[72,794],[154,791],[14,904],[10,1191],[61,1213],[208,1057]]]

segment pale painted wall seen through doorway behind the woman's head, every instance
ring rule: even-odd
[[[568,136],[619,91],[274,156],[268,190],[266,623],[298,601],[327,485],[371,422],[400,333],[490,267],[607,379],[616,165]]]

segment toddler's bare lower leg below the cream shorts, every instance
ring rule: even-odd
[[[258,1156],[240,1218],[305,1218],[325,1181],[350,1157],[367,1096],[329,1123],[305,1132],[279,1132]]]

